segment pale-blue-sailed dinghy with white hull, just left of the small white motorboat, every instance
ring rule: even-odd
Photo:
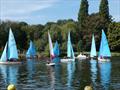
[[[67,42],[67,58],[61,59],[61,62],[75,61],[75,55],[71,43],[70,32],[68,33],[68,42]]]

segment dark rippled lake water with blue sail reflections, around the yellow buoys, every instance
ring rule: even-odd
[[[111,62],[96,60],[62,63],[47,67],[45,60],[28,60],[22,65],[0,65],[0,90],[13,83],[17,90],[120,90],[120,57]]]

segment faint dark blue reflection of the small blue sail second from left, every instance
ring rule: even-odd
[[[28,78],[32,78],[34,72],[35,72],[35,66],[34,66],[35,61],[34,60],[27,60],[27,70],[28,70]]]

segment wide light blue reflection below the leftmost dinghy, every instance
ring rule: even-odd
[[[1,65],[0,69],[5,83],[17,84],[18,66]]]

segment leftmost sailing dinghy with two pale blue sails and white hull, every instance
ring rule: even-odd
[[[18,61],[18,51],[12,30],[9,30],[8,42],[5,45],[0,64],[20,64]]]

